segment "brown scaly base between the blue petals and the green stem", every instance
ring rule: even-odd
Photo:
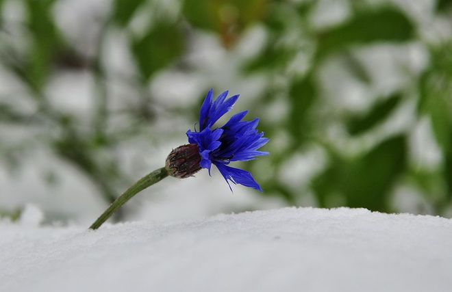
[[[186,144],[179,146],[166,157],[165,168],[168,174],[177,178],[188,178],[198,170],[201,162],[197,144]]]

